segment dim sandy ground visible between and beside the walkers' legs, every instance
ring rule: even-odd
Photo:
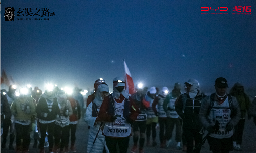
[[[173,135],[174,132],[173,132]],[[88,137],[88,126],[84,121],[81,119],[78,123],[77,132],[76,132],[76,150],[77,152],[87,152],[87,137]],[[2,141],[1,141],[2,142]],[[174,140],[174,137],[172,138],[172,145],[169,148],[160,148],[160,142],[159,142],[159,130],[157,129],[157,146],[145,146],[144,151],[146,152],[154,152],[154,153],[167,153],[167,152],[182,152],[182,150],[176,150],[176,142]],[[34,140],[31,139],[29,152],[39,152],[39,149],[32,148],[34,143]],[[6,144],[6,148],[2,149],[2,153],[12,153],[15,152],[14,150],[9,150],[9,135],[8,140]],[[14,142],[14,147],[16,143]],[[130,152],[133,145],[133,139],[130,137],[130,147],[127,152]],[[253,119],[247,120],[245,122],[245,129],[244,129],[244,135],[243,135],[243,142],[242,142],[242,151],[232,151],[232,152],[247,152],[247,153],[254,153],[256,152],[256,126],[253,123]],[[48,152],[48,148],[45,148],[46,152]],[[70,151],[71,152],[71,151]],[[201,149],[201,152],[211,152],[209,151],[209,145],[208,142],[204,144],[203,148]],[[123,153],[123,152],[122,152]]]

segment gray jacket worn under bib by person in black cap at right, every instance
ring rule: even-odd
[[[226,95],[227,98],[227,95]],[[217,100],[216,95],[214,96],[214,103],[219,104],[219,101]],[[213,126],[215,123],[210,123],[208,120],[208,115],[209,115],[209,107],[210,107],[210,96],[205,97],[202,100],[202,104],[201,104],[201,109],[199,111],[199,119],[202,122],[203,126],[207,129],[208,126]],[[231,123],[234,126],[237,125],[237,123],[240,120],[241,117],[241,112],[240,112],[240,107],[238,104],[238,101],[236,99],[236,97],[232,96],[232,119],[230,120],[229,123]]]

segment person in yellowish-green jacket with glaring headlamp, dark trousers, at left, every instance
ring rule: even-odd
[[[30,144],[31,117],[35,113],[34,99],[28,96],[28,89],[21,88],[20,96],[17,97],[11,106],[11,112],[15,117],[16,130],[16,152],[28,152]]]

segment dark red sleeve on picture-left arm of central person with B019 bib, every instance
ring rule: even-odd
[[[112,115],[108,114],[108,106],[109,106],[109,96],[105,97],[102,104],[101,104],[101,107],[100,107],[100,110],[99,110],[99,114],[98,114],[98,117],[103,120],[103,121],[106,121],[106,122],[111,122],[110,121],[110,118]]]

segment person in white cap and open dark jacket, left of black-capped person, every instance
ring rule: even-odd
[[[197,146],[202,140],[200,131],[203,125],[198,114],[205,94],[199,89],[199,82],[196,79],[189,79],[184,84],[187,91],[178,97],[175,111],[183,119],[182,130],[187,142],[187,152],[193,152],[193,141],[195,140]],[[200,152],[200,149],[197,152]]]

